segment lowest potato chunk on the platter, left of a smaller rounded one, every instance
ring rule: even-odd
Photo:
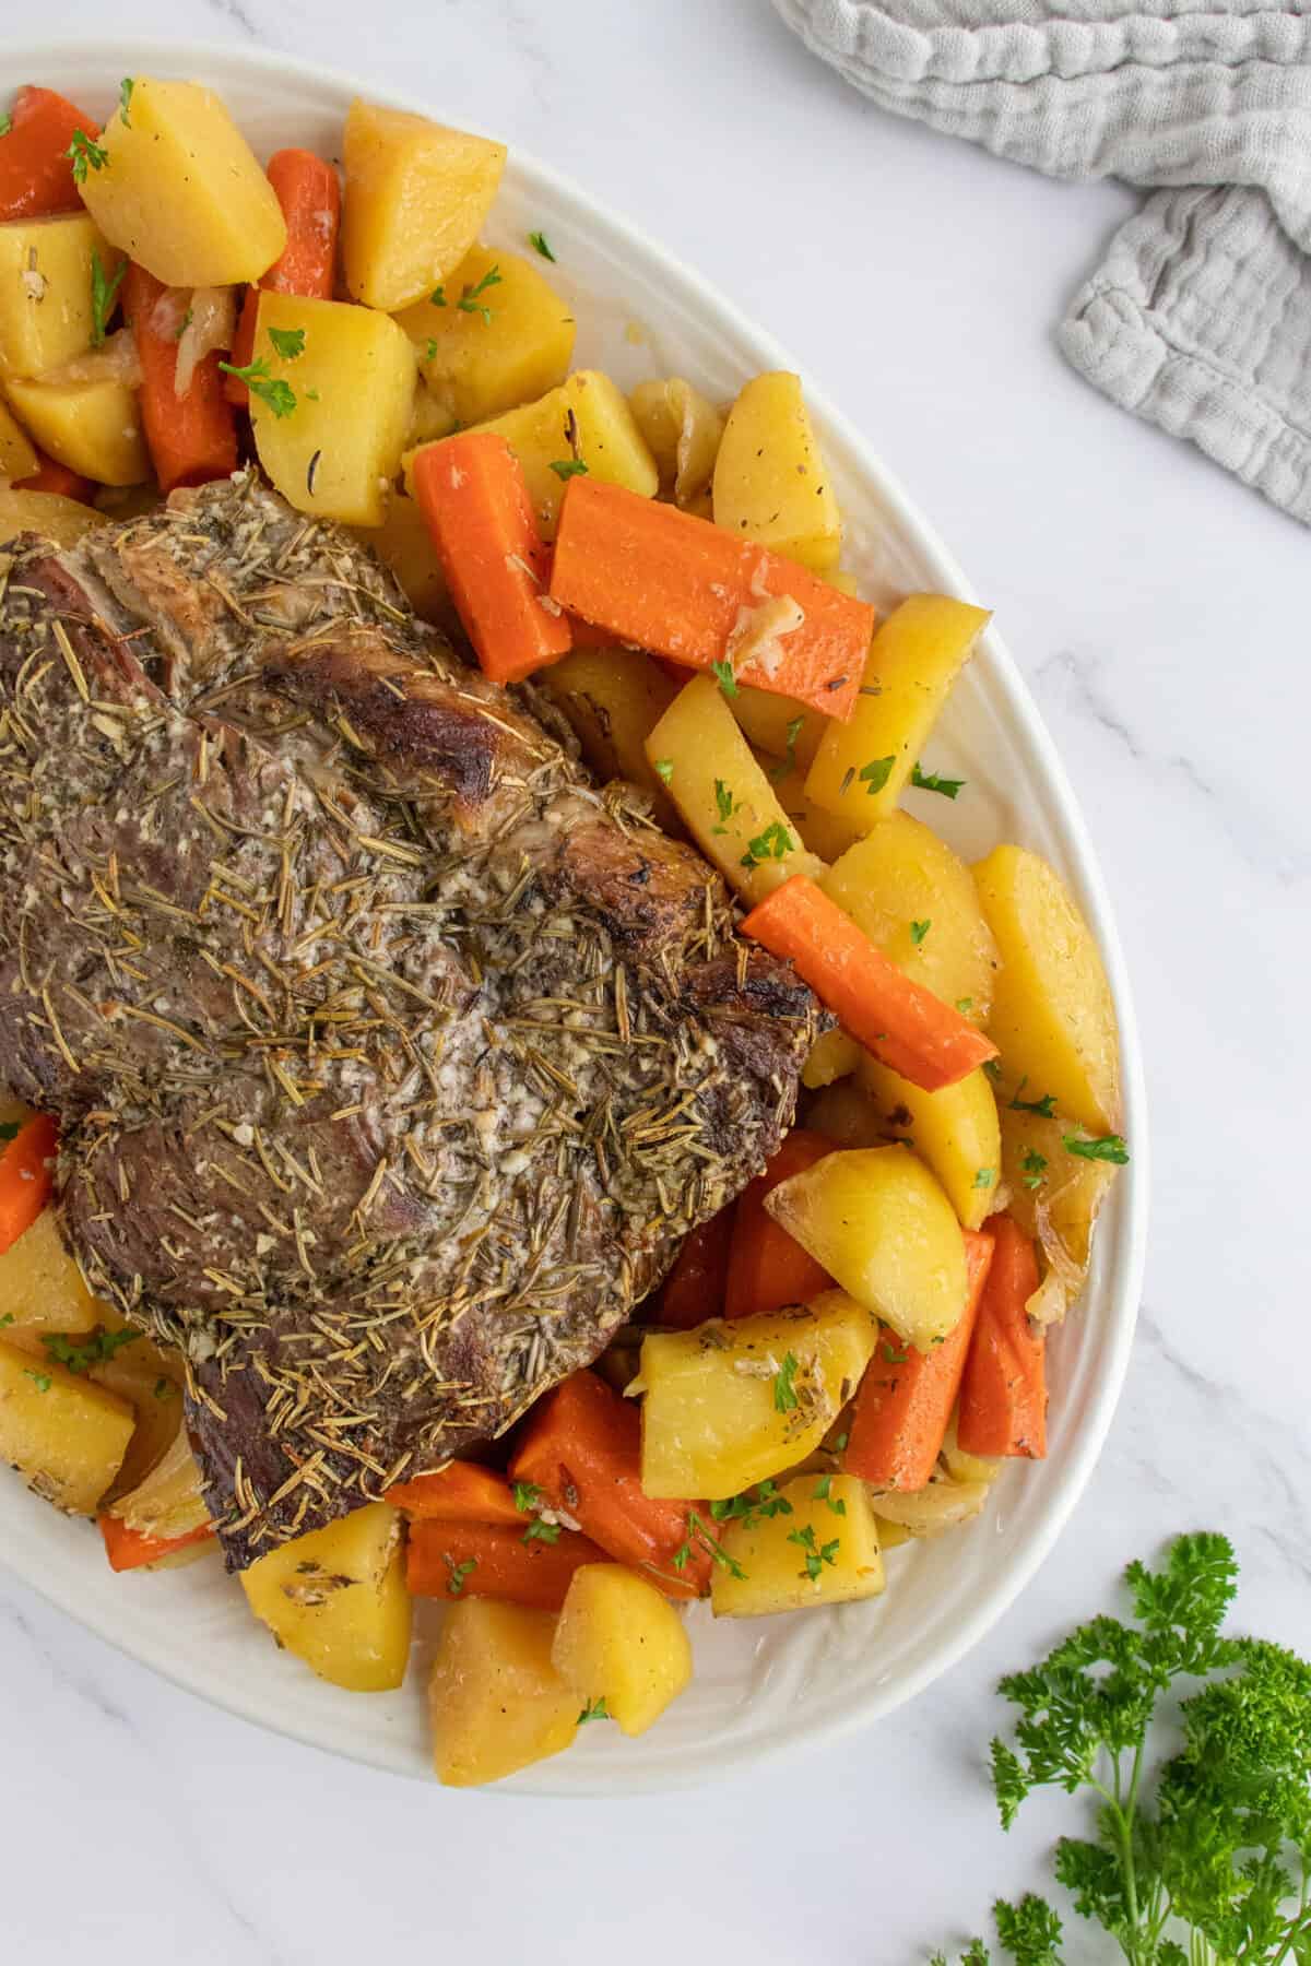
[[[462,1598],[446,1608],[428,1681],[436,1779],[470,1789],[560,1754],[578,1695],[550,1663],[548,1610]]]

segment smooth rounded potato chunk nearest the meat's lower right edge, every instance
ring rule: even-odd
[[[780,1182],[765,1207],[857,1303],[916,1351],[928,1351],[959,1323],[961,1225],[934,1176],[904,1146],[826,1154]]]

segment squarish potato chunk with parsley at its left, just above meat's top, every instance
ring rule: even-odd
[[[269,334],[303,330],[301,354],[285,356]],[[261,293],[256,358],[293,407],[250,395],[256,448],[265,472],[316,519],[381,525],[387,492],[415,401],[415,350],[403,328],[368,307]]]

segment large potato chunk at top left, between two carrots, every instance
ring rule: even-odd
[[[100,136],[86,210],[167,287],[228,287],[265,273],[287,244],[283,208],[226,104],[200,83],[138,75],[128,114]]]

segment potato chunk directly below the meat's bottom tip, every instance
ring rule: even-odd
[[[277,1642],[334,1687],[389,1693],[405,1679],[411,1598],[389,1502],[279,1543],[242,1571],[242,1589]]]

